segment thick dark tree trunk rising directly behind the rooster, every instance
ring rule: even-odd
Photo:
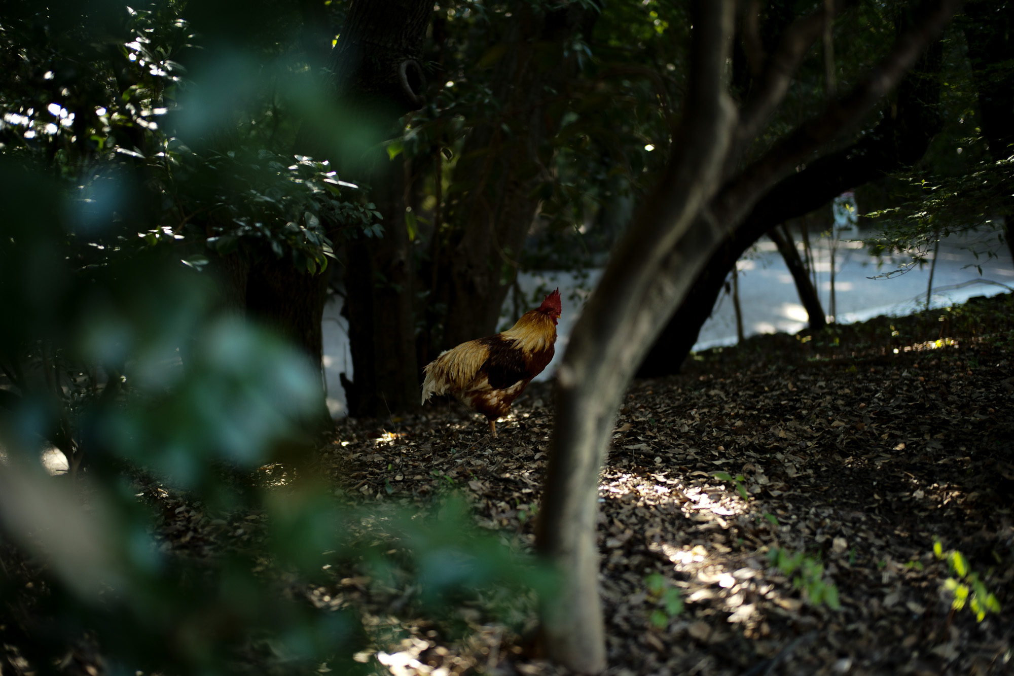
[[[445,303],[439,351],[493,333],[517,274],[517,259],[538,207],[532,191],[550,178],[556,132],[566,107],[561,92],[577,72],[565,50],[588,36],[598,11],[572,2],[546,11],[521,0],[503,38],[494,95],[502,111],[465,141],[454,181],[472,188],[451,202],[453,229],[440,248],[436,299]],[[504,127],[510,131],[504,131]],[[432,356],[432,355],[430,355]]]

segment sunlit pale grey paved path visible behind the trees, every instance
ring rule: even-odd
[[[995,246],[997,258],[981,256],[977,260],[967,251],[969,239],[952,236],[940,248],[934,273],[933,307],[963,302],[975,295],[993,295],[1014,287],[1014,263],[1005,246]],[[817,284],[824,312],[828,312],[830,291],[830,256],[827,241],[815,246]],[[878,315],[907,315],[926,302],[929,265],[914,268],[891,279],[870,279],[893,269],[885,265],[877,268],[872,258],[858,243],[839,244],[836,255],[836,300],[840,322],[860,322]],[[982,247],[980,247],[982,249]],[[982,265],[983,274],[971,266]],[[785,331],[795,333],[806,326],[806,312],[799,302],[796,287],[775,245],[767,240],[758,243],[753,252],[739,261],[740,306],[743,311],[743,329],[747,336],[756,333]],[[550,378],[567,346],[570,331],[577,319],[581,305],[590,288],[598,281],[599,270],[589,272],[583,282],[570,273],[527,273],[519,278],[521,289],[529,294],[540,285],[552,290],[560,286],[563,296],[563,317],[558,326],[557,354],[538,380]],[[345,320],[339,316],[340,300],[324,310],[323,347],[324,376],[328,383],[328,406],[336,417],[346,414],[345,393],[339,374],[351,370],[348,335]],[[509,323],[511,298],[502,324]],[[504,328],[504,327],[501,327]],[[726,294],[720,297],[712,317],[701,329],[695,349],[736,342],[736,321],[732,302]]]

